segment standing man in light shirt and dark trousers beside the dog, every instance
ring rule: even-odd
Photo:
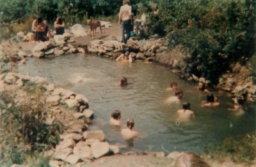
[[[131,24],[132,24],[132,7],[130,6],[129,0],[124,0],[123,6],[120,8],[118,23],[122,22],[122,38],[123,42],[127,43],[130,38]],[[125,37],[125,33],[127,34]]]

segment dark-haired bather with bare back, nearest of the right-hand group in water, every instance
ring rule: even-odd
[[[195,117],[194,112],[190,110],[190,103],[185,102],[182,105],[182,109],[177,111],[177,117],[179,120],[189,120]]]

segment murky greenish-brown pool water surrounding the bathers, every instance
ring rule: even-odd
[[[123,126],[128,118],[134,119],[134,130],[141,135],[134,140],[134,149],[139,150],[202,152],[206,145],[220,143],[227,136],[256,129],[255,104],[245,106],[245,113],[237,117],[227,110],[232,108],[230,94],[213,91],[220,106],[202,107],[206,94],[197,91],[195,83],[180,80],[178,75],[158,64],[129,64],[91,55],[65,55],[54,59],[29,59],[19,71],[43,76],[58,85],[72,83],[70,89],[84,94],[95,112],[90,129],[102,129],[111,144],[125,144],[120,134],[109,126],[113,110],[121,110]],[[123,76],[133,84],[116,87]],[[164,103],[173,96],[173,92],[166,91],[171,81],[177,81],[178,89],[184,92],[181,103]],[[175,118],[182,101],[189,101],[195,112],[191,122],[177,122]]]

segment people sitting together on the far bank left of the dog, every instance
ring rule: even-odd
[[[25,41],[47,41],[52,37],[48,22],[47,20],[43,21],[42,17],[33,20],[31,29],[33,33],[28,33],[24,37]],[[55,34],[62,35],[65,33],[65,22],[63,22],[61,17],[57,17],[54,22],[54,29],[56,30]]]

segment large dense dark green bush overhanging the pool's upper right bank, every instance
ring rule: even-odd
[[[231,62],[255,53],[255,1],[159,0],[158,4],[169,46],[180,44],[188,52],[187,72],[216,83]]]

